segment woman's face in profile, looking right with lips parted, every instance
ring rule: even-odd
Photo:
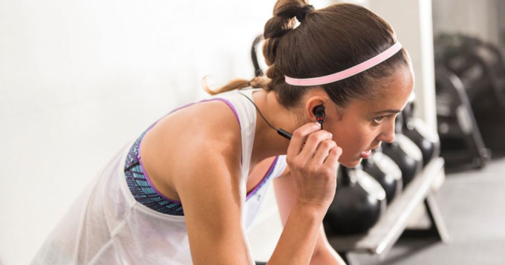
[[[326,109],[324,129],[342,148],[339,158],[345,167],[356,167],[381,141],[394,141],[394,120],[405,107],[414,86],[411,69],[398,71],[373,100],[353,99],[345,109],[336,104]],[[328,115],[329,113],[334,115]],[[340,117],[335,113],[340,112]]]

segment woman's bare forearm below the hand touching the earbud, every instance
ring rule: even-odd
[[[309,264],[324,215],[295,204],[268,264]]]

